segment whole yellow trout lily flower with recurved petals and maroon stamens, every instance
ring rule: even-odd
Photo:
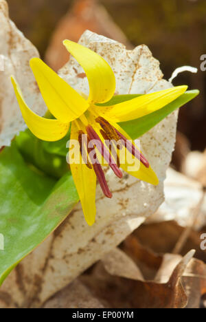
[[[89,156],[91,149],[89,144],[87,147],[83,144],[82,135],[87,136],[88,143],[91,140],[99,142],[99,144],[95,144],[95,156],[100,160],[101,154],[103,155],[102,148],[104,148],[104,160],[113,169],[117,177],[122,178],[120,169],[123,169],[139,180],[157,185],[159,183],[157,175],[139,151],[135,142],[119,127],[118,123],[141,118],[161,109],[181,96],[186,91],[187,86],[172,87],[161,92],[146,94],[113,106],[104,106],[104,104],[101,106],[101,103],[109,102],[115,94],[113,70],[101,56],[87,47],[69,40],[65,40],[63,43],[87,75],[89,82],[88,97],[76,92],[40,58],[32,58],[30,67],[45,104],[55,119],[47,119],[34,114],[25,103],[21,89],[13,76],[12,84],[25,123],[36,137],[50,142],[57,141],[66,136],[71,126],[71,140],[77,140],[80,144],[78,150],[80,162],[71,162],[71,173],[85,219],[89,225],[92,225],[95,222],[96,213],[95,190],[97,179],[106,197],[111,198],[112,193],[106,183],[101,162],[95,164],[91,162]],[[117,149],[118,153],[121,150],[127,151],[133,158],[139,160],[135,170],[130,171],[130,164],[127,161],[120,162],[118,156],[115,161],[111,149],[105,144],[107,139],[113,140],[113,142],[120,140],[122,146]],[[129,143],[125,147],[123,143],[127,141]],[[84,150],[84,153],[82,153],[82,150]]]

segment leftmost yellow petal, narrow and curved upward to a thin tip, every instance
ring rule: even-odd
[[[48,120],[47,118],[41,118],[41,116],[36,115],[27,107],[21,89],[18,83],[16,83],[15,78],[12,76],[11,79],[22,116],[27,127],[32,131],[34,136],[37,136],[37,138],[44,141],[58,141],[63,138],[67,134],[69,123],[65,124],[59,120]]]

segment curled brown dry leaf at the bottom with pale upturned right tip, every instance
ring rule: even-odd
[[[111,308],[185,308],[188,298],[182,285],[182,277],[194,253],[192,250],[183,258],[168,254],[157,273],[159,281],[137,281],[132,279],[133,274],[130,278],[125,278],[122,276],[120,264],[119,272],[116,270],[117,276],[111,275],[113,253],[109,266],[108,254],[102,263],[95,266],[91,275],[83,275],[80,280],[102,303],[109,303]],[[125,260],[125,255],[123,258]],[[119,260],[121,261],[120,257]],[[168,265],[169,261],[171,266]],[[117,263],[114,262],[113,265],[117,268]],[[128,275],[129,272],[128,269]]]

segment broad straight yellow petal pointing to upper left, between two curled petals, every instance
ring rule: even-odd
[[[47,66],[40,58],[32,58],[30,66],[49,111],[61,122],[71,122],[89,107],[69,84]]]

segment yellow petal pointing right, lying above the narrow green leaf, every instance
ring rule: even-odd
[[[133,100],[114,105],[113,107],[98,107],[98,111],[102,116],[114,122],[135,120],[135,118],[141,118],[141,116],[150,114],[168,105],[184,94],[186,90],[187,86],[172,87],[170,89],[164,89],[161,92],[139,96]]]

